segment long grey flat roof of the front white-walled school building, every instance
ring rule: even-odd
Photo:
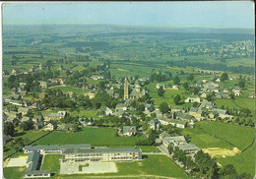
[[[141,149],[137,148],[98,148],[98,149],[64,149],[63,154],[68,153],[92,153],[92,152],[139,152]]]

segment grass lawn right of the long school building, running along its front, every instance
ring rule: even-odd
[[[185,172],[176,166],[167,156],[165,155],[148,155],[143,161],[134,162],[117,162],[116,163],[118,172],[117,173],[105,173],[105,174],[88,174],[88,175],[56,175],[54,178],[83,178],[83,176],[138,176],[138,175],[155,175],[166,176],[173,178],[189,178]],[[149,178],[149,177],[146,177]],[[152,176],[151,178],[155,178]]]

